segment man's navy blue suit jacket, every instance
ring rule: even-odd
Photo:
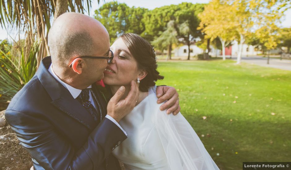
[[[33,158],[34,169],[120,169],[111,151],[126,139],[104,118],[98,125],[87,110],[48,71],[42,60],[34,77],[13,97],[5,118]],[[106,115],[106,101],[93,85]]]

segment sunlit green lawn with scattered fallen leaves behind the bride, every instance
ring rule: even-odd
[[[177,89],[181,113],[219,168],[291,161],[291,71],[230,60],[158,65],[165,79],[157,84]]]

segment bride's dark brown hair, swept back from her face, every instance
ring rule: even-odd
[[[148,74],[141,80],[140,91],[148,91],[149,87],[155,85],[155,81],[164,79],[157,70],[157,60],[154,48],[141,36],[133,33],[126,33],[120,36],[128,47],[130,53],[137,61],[139,69],[144,69]]]

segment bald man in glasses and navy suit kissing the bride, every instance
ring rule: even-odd
[[[120,169],[111,151],[126,139],[118,122],[133,109],[138,94],[132,82],[124,100],[124,87],[109,100],[95,84],[114,56],[108,32],[89,16],[65,13],[54,21],[49,45],[51,57],[42,60],[5,113],[34,169]],[[159,100],[168,100],[164,108],[178,113],[176,91],[157,89]]]

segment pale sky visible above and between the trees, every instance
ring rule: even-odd
[[[104,4],[104,0],[100,0],[100,4],[97,3],[97,0],[92,0],[92,9],[90,11],[90,16],[93,16],[94,11],[96,9],[98,9],[100,6],[102,6]],[[105,0],[105,2],[110,2],[110,0]],[[171,5],[171,4],[179,4],[181,2],[192,2],[192,3],[208,3],[209,0],[118,0],[118,2],[121,3],[126,3],[128,6],[132,7],[132,6],[139,6],[139,7],[144,7],[144,8],[148,8],[150,10],[157,8],[157,7],[161,7],[161,6],[165,6],[165,5]],[[282,19],[282,27],[291,27],[291,9],[289,9],[288,11],[285,12],[285,17]],[[10,32],[10,36],[13,38],[16,38],[17,33],[15,30],[11,30]],[[0,40],[3,39],[10,39],[7,31],[3,30],[0,27]]]

